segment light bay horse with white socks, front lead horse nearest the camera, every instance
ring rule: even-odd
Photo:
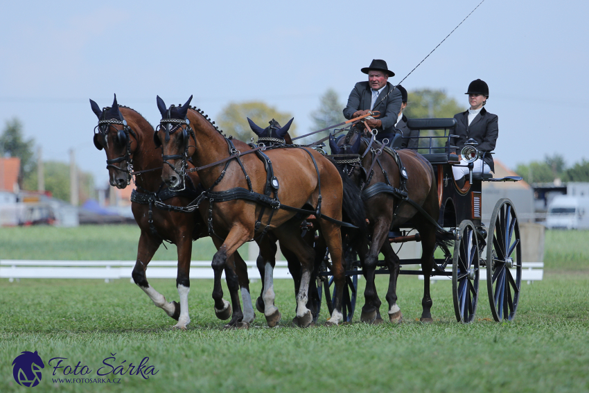
[[[191,99],[192,96],[182,106],[168,108],[157,96],[162,119],[156,132],[164,148],[161,178],[170,188],[182,187],[180,174],[188,157],[198,167],[200,181],[206,189],[201,200],[210,202],[209,232],[222,240],[211,263],[215,270],[213,298],[222,296],[221,272],[231,265],[227,258],[254,238],[263,253],[263,242],[267,241],[263,234],[272,232],[301,263],[295,322],[309,326],[313,317],[306,303],[315,250],[301,238],[300,225],[309,213],[316,213],[333,261],[335,281],[334,309],[326,325],[339,324],[345,277],[340,234],[343,185],[337,168],[319,152],[306,148],[267,150],[264,152],[267,159],[255,154],[241,155],[252,148],[224,137],[202,114],[191,109]],[[189,151],[189,146],[195,146],[193,151]],[[304,214],[299,214],[301,211]],[[274,256],[263,255],[263,258],[264,315],[268,326],[275,326],[281,314],[274,305],[271,263]]]

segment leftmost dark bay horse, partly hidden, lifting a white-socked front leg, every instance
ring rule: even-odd
[[[96,102],[90,100],[91,109],[98,117],[98,132],[94,134],[94,145],[98,150],[105,150],[107,168],[111,186],[124,189],[130,184],[135,174],[137,190],[132,194],[131,209],[137,225],[141,229],[137,250],[137,261],[133,268],[132,278],[152,300],[155,306],[162,308],[169,317],[177,320],[174,328],[186,329],[190,322],[188,313],[188,292],[190,291],[190,262],[192,241],[209,236],[200,212],[182,213],[155,208],[155,202],[164,200],[173,207],[182,207],[196,198],[196,187],[200,184],[198,175],[190,173],[184,191],[171,192],[161,181],[161,152],[153,139],[154,129],[148,121],[129,107],[119,106],[116,95],[112,107],[100,110]],[[192,164],[189,164],[192,166]],[[133,172],[136,171],[136,172]],[[169,241],[177,247],[178,272],[176,286],[180,298],[177,302],[166,302],[155,288],[150,286],[146,277],[146,269],[153,255],[163,241]],[[238,268],[247,269],[245,262],[238,253]],[[240,281],[247,288],[248,282]],[[233,309],[228,302],[222,300],[223,306],[216,308],[216,316],[220,320],[231,321],[227,327],[245,327],[254,320],[251,299],[249,313],[244,316],[240,311],[238,292],[231,293]],[[245,299],[247,303],[247,299]]]

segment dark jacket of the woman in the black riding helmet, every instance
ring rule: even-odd
[[[499,117],[496,114],[486,112],[482,108],[481,112],[475,116],[471,125],[468,125],[468,110],[454,115],[457,121],[456,132],[457,138],[450,140],[451,146],[457,146],[456,153],[459,155],[460,150],[464,148],[464,142],[467,139],[473,138],[479,144],[475,146],[477,150],[482,152],[492,152],[495,150],[495,143],[499,136]],[[455,149],[450,149],[450,152]],[[484,156],[484,161],[489,165],[491,171],[495,172],[495,165],[493,163],[493,156],[487,154]]]

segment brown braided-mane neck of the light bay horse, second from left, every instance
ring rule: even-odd
[[[196,149],[192,155],[195,166],[208,165],[229,156],[225,138],[209,121],[204,119],[204,116],[192,109],[188,110],[186,116],[188,116],[196,136]],[[202,175],[199,173],[201,181],[206,184],[207,180],[212,177],[216,179],[222,169],[222,164],[206,168],[202,171]]]

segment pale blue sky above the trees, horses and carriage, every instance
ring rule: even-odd
[[[0,14],[0,127],[18,117],[44,159],[67,161],[74,148],[105,186],[89,98],[104,107],[116,93],[152,124],[157,94],[168,104],[193,94],[213,120],[231,101],[262,100],[308,132],[326,89],[345,103],[373,58],[400,81],[479,2],[11,1]],[[485,80],[495,157],[508,166],[588,159],[587,15],[586,1],[485,0],[403,85],[466,106],[468,83]]]

